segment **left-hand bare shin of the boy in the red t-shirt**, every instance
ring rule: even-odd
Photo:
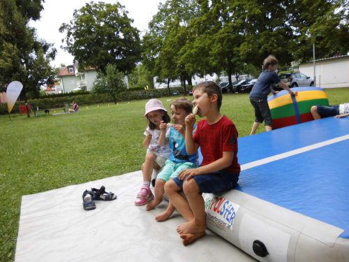
[[[189,206],[186,198],[180,194],[181,189],[173,180],[169,180],[165,184],[165,193],[170,198],[174,208],[186,219],[186,221],[191,221],[194,218],[191,207]]]

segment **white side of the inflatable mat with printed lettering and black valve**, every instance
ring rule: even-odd
[[[258,261],[349,261],[341,228],[242,191],[206,194],[205,208],[207,227]]]

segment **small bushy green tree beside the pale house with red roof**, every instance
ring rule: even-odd
[[[105,73],[100,73],[91,92],[108,93],[112,96],[114,103],[117,103],[117,96],[125,89],[124,73],[118,71],[115,64],[107,64]]]

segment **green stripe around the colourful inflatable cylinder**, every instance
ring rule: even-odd
[[[299,114],[304,114],[310,112],[312,105],[329,105],[328,99],[313,99],[308,101],[298,102]],[[278,108],[273,108],[270,110],[272,112],[272,119],[278,119],[283,117],[292,117],[295,115],[295,108],[293,103],[288,105],[279,106]]]

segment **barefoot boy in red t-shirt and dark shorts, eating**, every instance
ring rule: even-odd
[[[198,122],[193,135],[195,115],[186,117],[186,152],[193,154],[200,147],[203,161],[200,167],[186,169],[179,177],[165,184],[165,193],[187,221],[177,227],[184,245],[205,235],[205,201],[202,193],[234,188],[240,173],[237,129],[228,117],[219,112],[221,89],[215,82],[202,82],[193,89],[193,97],[193,103],[198,105],[198,115],[206,118]],[[186,198],[181,196],[181,190]]]

